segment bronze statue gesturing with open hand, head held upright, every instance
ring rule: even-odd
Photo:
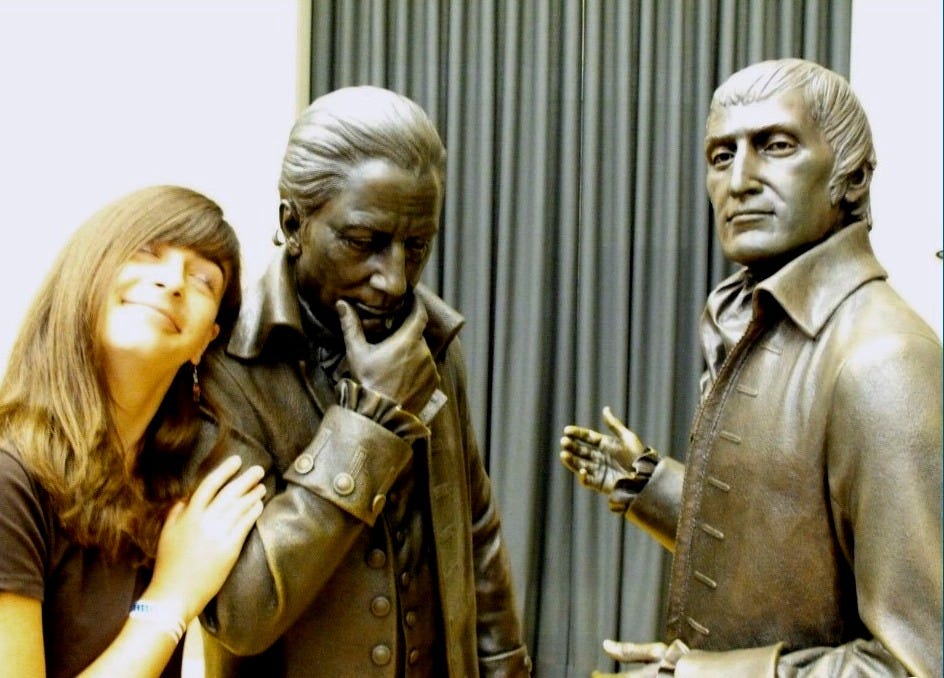
[[[674,553],[665,643],[635,673],[941,675],[941,344],[869,244],[875,167],[848,83],[807,61],[714,93],[725,256],[685,465],[606,410],[561,460]],[[886,227],[893,227],[887,225]]]

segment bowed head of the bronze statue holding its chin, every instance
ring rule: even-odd
[[[316,99],[292,129],[279,221],[298,293],[338,329],[337,302],[386,336],[412,306],[439,229],[446,151],[404,96],[348,87]]]

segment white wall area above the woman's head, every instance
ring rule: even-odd
[[[296,0],[0,0],[0,369],[68,235],[138,187],[215,199],[261,272],[297,19]]]

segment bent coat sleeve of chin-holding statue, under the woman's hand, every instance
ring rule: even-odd
[[[260,442],[265,437],[242,391],[245,380],[225,361],[214,365],[214,379],[219,407],[233,420],[226,454],[241,456],[244,467],[266,469],[267,497],[201,623],[230,652],[258,654],[308,608],[357,537],[374,524],[383,506],[376,498],[390,489],[412,451],[380,424],[335,405],[312,441],[280,470]],[[215,440],[215,422],[205,427],[202,439]]]

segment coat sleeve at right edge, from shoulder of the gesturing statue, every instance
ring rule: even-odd
[[[917,676],[941,671],[941,380],[936,338],[868,342],[843,367],[827,434],[834,521],[859,617]]]

